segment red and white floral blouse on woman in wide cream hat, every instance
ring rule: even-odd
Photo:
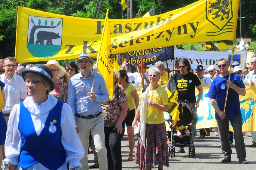
[[[59,80],[58,83],[54,85],[54,89],[53,91],[50,91],[49,95],[53,95],[56,99],[62,101],[62,97],[67,92],[67,90],[68,88],[66,83]]]

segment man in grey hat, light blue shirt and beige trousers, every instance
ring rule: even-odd
[[[96,73],[93,92],[91,92],[94,77],[94,72],[91,70],[93,59],[90,54],[81,52],[75,63],[80,68],[80,73],[70,78],[68,104],[75,117],[76,129],[85,153],[88,152],[91,132],[99,159],[99,168],[107,169],[107,150],[101,108],[101,102],[109,100],[105,80],[101,74]],[[87,154],[80,162],[83,165],[83,170],[89,170]]]

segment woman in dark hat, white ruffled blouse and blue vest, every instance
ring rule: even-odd
[[[29,97],[11,111],[4,161],[11,170],[66,170],[67,163],[69,169],[79,169],[84,149],[69,105],[49,95],[52,72],[36,64],[22,77]]]

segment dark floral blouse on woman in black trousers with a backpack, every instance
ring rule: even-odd
[[[119,88],[119,99],[115,96],[115,89],[113,92],[113,98],[108,102],[101,104],[102,112],[104,115],[104,126],[110,127],[117,124],[118,117],[121,112],[120,104],[127,101],[126,94],[122,88]]]

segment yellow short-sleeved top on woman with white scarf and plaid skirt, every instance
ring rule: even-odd
[[[142,91],[141,91],[142,92]],[[149,90],[148,99],[152,99],[160,105],[168,105],[167,91],[159,86],[155,90]],[[141,101],[141,98],[140,98]],[[147,105],[146,123],[159,124],[165,121],[163,111],[160,111],[153,105]]]

